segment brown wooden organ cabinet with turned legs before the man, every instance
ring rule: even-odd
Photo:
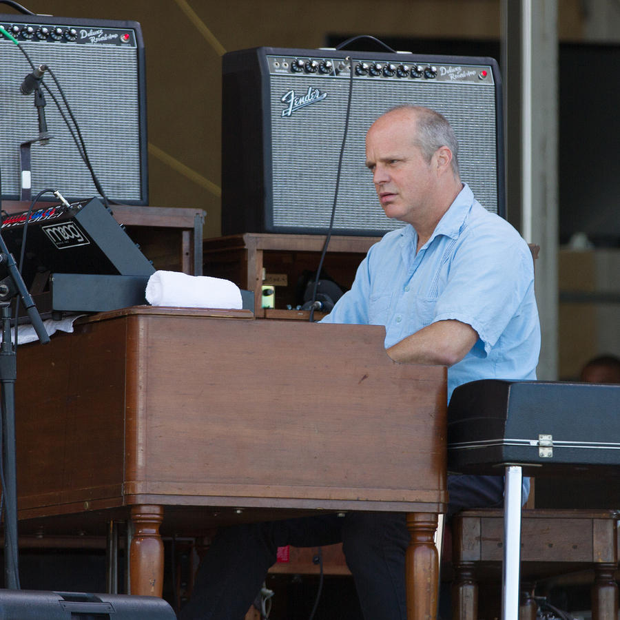
[[[375,326],[136,307],[19,347],[20,531],[130,517],[131,592],[161,596],[161,533],[399,510],[410,617],[435,618],[446,369],[393,362],[383,341]]]

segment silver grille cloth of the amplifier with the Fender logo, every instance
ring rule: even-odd
[[[316,80],[296,78],[298,92],[316,85]],[[282,118],[280,97],[289,87],[286,76],[271,75],[273,223],[324,227],[331,216],[349,81],[331,81],[329,96],[324,101]],[[497,136],[492,86],[427,81],[419,85],[372,83],[367,79],[355,83],[354,78],[335,228],[387,231],[402,226],[384,216],[371,173],[364,165],[366,130],[382,112],[400,103],[432,107],[448,118],[459,139],[462,180],[471,186],[486,209],[497,213]],[[373,208],[369,209],[369,205]]]

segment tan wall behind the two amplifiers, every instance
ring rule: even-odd
[[[218,45],[316,48],[328,33],[499,38],[499,0],[25,0],[34,12],[139,21],[147,58],[149,202],[207,211],[220,234]],[[560,0],[561,37],[581,37],[579,0]],[[10,9],[3,6],[0,11]],[[205,27],[216,43],[205,36]],[[218,49],[216,49],[218,48]],[[411,50],[415,51],[415,50]]]

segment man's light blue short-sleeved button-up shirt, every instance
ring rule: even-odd
[[[322,322],[384,325],[386,348],[436,321],[471,325],[478,340],[448,368],[448,400],[477,379],[535,379],[533,258],[517,231],[464,185],[417,254],[416,247],[411,225],[386,234]]]

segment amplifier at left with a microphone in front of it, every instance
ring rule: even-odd
[[[35,67],[48,65],[54,72],[107,198],[147,205],[146,80],[140,24],[3,14],[0,25],[28,53]],[[44,145],[37,141],[30,145],[30,174],[22,174],[20,145],[39,136],[33,95],[20,92],[22,81],[31,72],[14,42],[0,35],[2,198],[24,198],[21,188],[28,184],[32,196],[48,187],[59,189],[70,200],[96,195],[90,172],[45,89],[45,118],[52,138]],[[43,81],[62,105],[49,73]]]

